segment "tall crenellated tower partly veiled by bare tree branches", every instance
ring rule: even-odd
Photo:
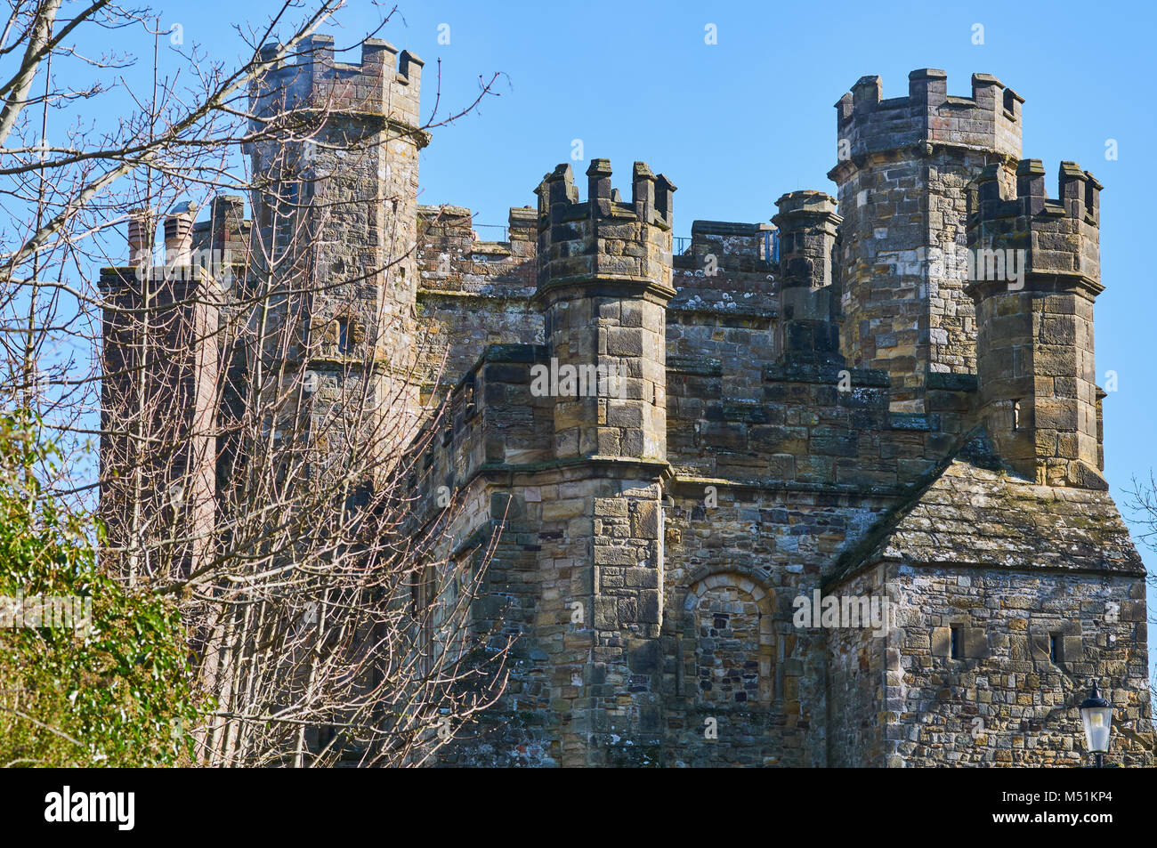
[[[271,140],[250,147],[260,175],[255,273],[324,282],[308,302],[287,304],[304,319],[295,364],[318,375],[316,398],[368,397],[388,419],[383,432],[400,441],[421,407],[413,376],[418,164],[429,142],[420,128],[421,68],[417,56],[381,39],[362,44],[360,65],[337,61],[333,37],[315,35],[251,90],[255,127],[274,126]],[[275,131],[286,121],[288,143]]]

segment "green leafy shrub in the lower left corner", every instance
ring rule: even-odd
[[[34,470],[53,454],[34,433],[0,415],[0,766],[187,762],[197,713],[176,609],[102,573],[93,519],[42,496]],[[13,626],[21,595],[79,598],[90,622]]]

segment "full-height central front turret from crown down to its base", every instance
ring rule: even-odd
[[[611,176],[607,160],[594,160],[580,200],[561,164],[537,189],[535,298],[550,366],[535,366],[530,390],[552,399],[557,463],[536,485],[558,499],[543,504],[539,584],[544,605],[561,597],[589,611],[582,637],[568,635],[548,658],[552,698],[575,692],[565,765],[602,764],[609,745],[643,746],[659,732],[675,186],[635,162],[624,202]],[[598,685],[575,690],[576,679]]]

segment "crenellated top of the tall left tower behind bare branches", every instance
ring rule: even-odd
[[[280,45],[261,47],[261,57],[274,56]],[[295,59],[295,61],[294,61]],[[408,128],[421,125],[422,60],[400,53],[389,42],[367,38],[361,64],[334,59],[333,36],[315,35],[300,50],[282,59],[255,81],[253,111],[273,115],[281,110],[320,109],[330,112],[375,115]]]

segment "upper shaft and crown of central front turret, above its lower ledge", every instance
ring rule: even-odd
[[[587,170],[578,200],[570,165],[537,189],[538,292],[560,373],[596,375],[596,390],[559,392],[558,456],[666,456],[664,331],[671,286],[675,186],[635,162],[632,201],[611,187],[611,165]],[[589,381],[587,381],[589,383]],[[589,386],[588,386],[589,388]]]

